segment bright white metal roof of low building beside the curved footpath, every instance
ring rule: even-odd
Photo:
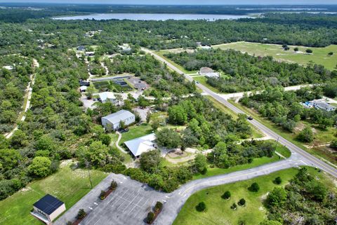
[[[156,135],[152,133],[124,142],[124,144],[128,147],[133,156],[138,158],[142,153],[156,149],[154,144],[155,139]]]

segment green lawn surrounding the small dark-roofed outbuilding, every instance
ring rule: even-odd
[[[41,197],[50,193],[62,200],[67,209],[77,203],[91,191],[87,170],[70,169],[70,161],[63,161],[61,168],[55,174],[32,182],[25,189],[18,191],[9,198],[0,201],[1,225],[42,225],[30,214],[32,205]],[[93,186],[99,184],[107,174],[91,170]]]

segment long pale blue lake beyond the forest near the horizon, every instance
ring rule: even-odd
[[[157,13],[101,13],[53,18],[54,20],[236,20],[250,18],[249,15],[213,14],[157,14]]]

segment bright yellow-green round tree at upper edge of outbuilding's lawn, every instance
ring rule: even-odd
[[[37,156],[28,166],[28,170],[37,177],[46,177],[51,174],[51,160],[47,157]]]

